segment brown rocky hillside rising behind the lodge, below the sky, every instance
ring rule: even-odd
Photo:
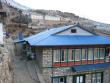
[[[16,35],[19,31],[23,31],[26,35],[27,34],[33,34],[38,33],[42,30],[49,29],[52,27],[59,27],[64,26],[68,24],[80,24],[80,26],[92,30],[92,31],[98,31],[98,32],[105,32],[109,33],[110,31],[110,24],[100,23],[96,22],[87,18],[80,17],[78,15],[75,15],[74,13],[69,12],[62,12],[59,10],[43,10],[43,9],[28,9],[24,6],[24,9],[21,8],[19,4],[14,4],[12,0],[9,0],[9,2],[4,4],[5,12],[9,12],[7,14],[8,18],[6,19],[6,31],[8,31],[11,34]],[[20,7],[18,7],[20,6]],[[21,8],[21,9],[20,9]],[[22,13],[21,13],[21,12]],[[40,15],[42,17],[44,16],[50,16],[53,18],[60,18],[60,20],[46,20],[44,18],[42,19],[33,19],[31,18],[31,15]],[[30,19],[31,18],[31,19]],[[16,28],[15,28],[16,27]]]

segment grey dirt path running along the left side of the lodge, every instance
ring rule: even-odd
[[[14,53],[14,45],[7,44],[13,64],[14,83],[40,83],[35,69],[35,61],[21,60]]]

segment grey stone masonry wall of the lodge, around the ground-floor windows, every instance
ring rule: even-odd
[[[52,68],[52,49],[43,49],[43,72],[45,83],[52,83],[51,77],[66,76],[66,83],[73,82],[73,76],[79,74],[91,74],[95,72],[103,72],[103,83],[110,83],[110,70],[94,70],[85,72],[73,72],[71,67],[56,67]]]

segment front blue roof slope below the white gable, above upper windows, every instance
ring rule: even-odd
[[[64,45],[106,45],[110,44],[110,38],[104,36],[49,36],[40,41],[31,40],[30,45],[35,46],[64,46]]]

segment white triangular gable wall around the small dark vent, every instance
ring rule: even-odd
[[[76,29],[76,33],[71,33],[71,29]],[[81,29],[80,27],[72,27],[66,31],[58,33],[57,35],[93,35],[93,34]]]

